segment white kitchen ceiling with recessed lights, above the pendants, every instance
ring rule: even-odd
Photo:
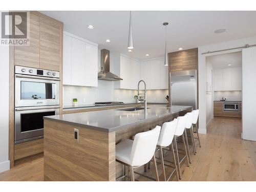
[[[64,30],[69,33],[139,60],[164,55],[164,22],[169,23],[168,52],[256,35],[256,11],[132,11],[134,50],[129,53],[129,11],[41,12],[63,22]],[[94,29],[88,29],[88,25]],[[214,33],[221,28],[227,31]],[[110,43],[105,42],[107,38]]]

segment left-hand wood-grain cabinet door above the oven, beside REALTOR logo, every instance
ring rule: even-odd
[[[14,64],[39,68],[39,16],[30,13],[29,46],[15,46]]]

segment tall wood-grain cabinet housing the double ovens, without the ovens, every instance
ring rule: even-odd
[[[26,66],[54,70],[60,72],[59,105],[62,113],[62,49],[63,49],[63,23],[38,11],[29,11],[29,46],[10,46],[9,52],[9,160],[10,167],[14,165],[14,66]],[[38,144],[39,143],[39,144]],[[38,151],[42,148],[42,141],[37,141],[37,146],[31,146]],[[23,143],[20,143],[23,145]],[[29,143],[26,143],[28,147]],[[19,154],[25,154],[18,147]],[[28,150],[27,150],[28,151]],[[35,150],[32,150],[35,151]],[[31,151],[31,152],[32,152]],[[27,152],[26,152],[27,153]],[[33,153],[33,152],[32,152]],[[28,153],[29,155],[30,153]],[[33,155],[33,154],[31,154]]]

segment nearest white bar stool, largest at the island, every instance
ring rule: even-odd
[[[134,140],[125,139],[116,145],[116,161],[130,168],[131,181],[135,181],[134,168],[148,163],[152,157],[156,169],[156,180],[159,181],[155,150],[160,130],[161,127],[157,125],[151,131],[136,134]]]

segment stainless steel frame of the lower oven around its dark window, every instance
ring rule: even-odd
[[[21,115],[22,114],[28,114],[28,113],[42,113],[42,112],[55,112],[55,115],[59,114],[59,105],[53,106],[51,108],[48,107],[27,107],[27,108],[15,108],[15,114],[14,114],[14,143],[22,143],[27,142],[35,139],[40,139],[44,137],[44,129],[37,129],[37,130],[31,130],[27,132],[21,132]]]

